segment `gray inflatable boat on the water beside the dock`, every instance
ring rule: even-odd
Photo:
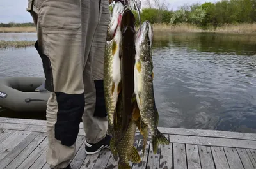
[[[43,77],[7,77],[0,79],[0,107],[17,112],[46,111],[50,92]]]

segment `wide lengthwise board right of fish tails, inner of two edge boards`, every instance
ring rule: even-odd
[[[244,149],[255,149],[256,141],[253,140],[234,140],[230,138],[211,138],[200,136],[182,136],[182,135],[169,135],[170,142],[173,143],[186,143],[196,145],[211,145],[221,147],[238,147]]]

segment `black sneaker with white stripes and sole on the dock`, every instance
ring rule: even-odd
[[[85,153],[91,155],[99,152],[102,149],[109,149],[110,140],[111,136],[106,135],[105,138],[103,138],[100,142],[95,144],[88,143],[85,141]]]

